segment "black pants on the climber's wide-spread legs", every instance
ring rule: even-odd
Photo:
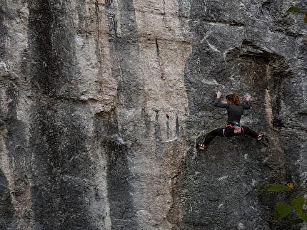
[[[216,130],[213,130],[211,132],[209,132],[206,135],[206,140],[203,142],[203,145],[208,146],[209,143],[213,140],[214,137],[216,136],[220,136],[220,137],[233,137],[233,136],[240,136],[243,134],[246,134],[248,136],[251,136],[253,138],[257,138],[257,132],[251,130],[249,127],[247,126],[241,126],[241,134],[235,134],[233,132],[234,128],[233,127],[221,127],[218,128]]]

